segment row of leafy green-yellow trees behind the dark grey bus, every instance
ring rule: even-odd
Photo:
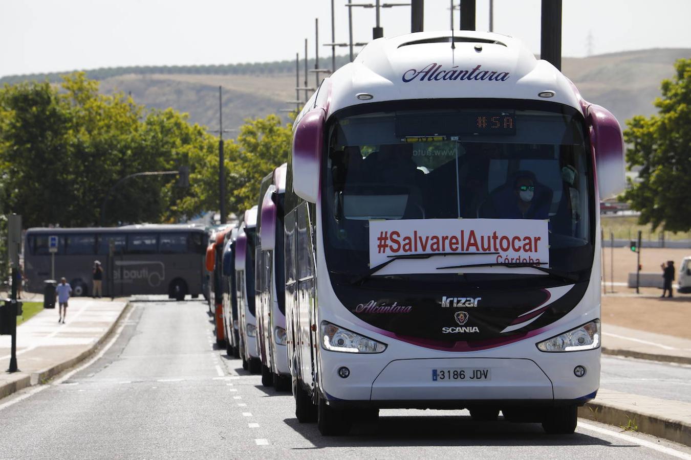
[[[287,160],[290,126],[269,115],[247,120],[225,142],[226,206],[257,202],[259,182]],[[171,176],[136,172],[189,167],[189,188]],[[111,190],[113,188],[113,190]],[[102,209],[104,198],[108,196]],[[104,96],[78,72],[58,87],[0,88],[0,214],[26,227],[174,222],[218,209],[218,138],[172,109],[144,110],[124,94]]]

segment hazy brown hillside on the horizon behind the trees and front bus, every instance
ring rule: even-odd
[[[652,101],[659,96],[660,82],[672,77],[676,59],[691,57],[691,49],[652,49],[585,58],[562,59],[562,71],[588,101],[612,110],[622,123],[635,114],[654,114]],[[337,66],[345,63],[338,57]],[[322,59],[321,66],[330,63]],[[265,117],[294,100],[294,61],[237,64],[229,66],[176,66],[109,68],[87,72],[101,81],[102,92],[131,92],[138,103],[151,108],[173,107],[189,113],[190,121],[218,129],[218,86],[223,87],[223,126],[236,129],[243,119]],[[301,71],[304,64],[301,63]],[[314,68],[314,61],[308,62]],[[26,79],[58,81],[57,74],[3,77],[0,83]],[[304,75],[301,73],[300,86]],[[309,86],[314,86],[310,74]],[[301,97],[304,99],[304,96]],[[287,119],[285,119],[287,121]],[[234,133],[226,137],[234,137]]]

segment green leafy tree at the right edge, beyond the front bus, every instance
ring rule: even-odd
[[[691,59],[679,59],[674,68],[674,79],[662,82],[662,97],[654,102],[659,113],[627,121],[626,160],[641,169],[624,198],[641,211],[640,223],[686,232],[691,230]]]

